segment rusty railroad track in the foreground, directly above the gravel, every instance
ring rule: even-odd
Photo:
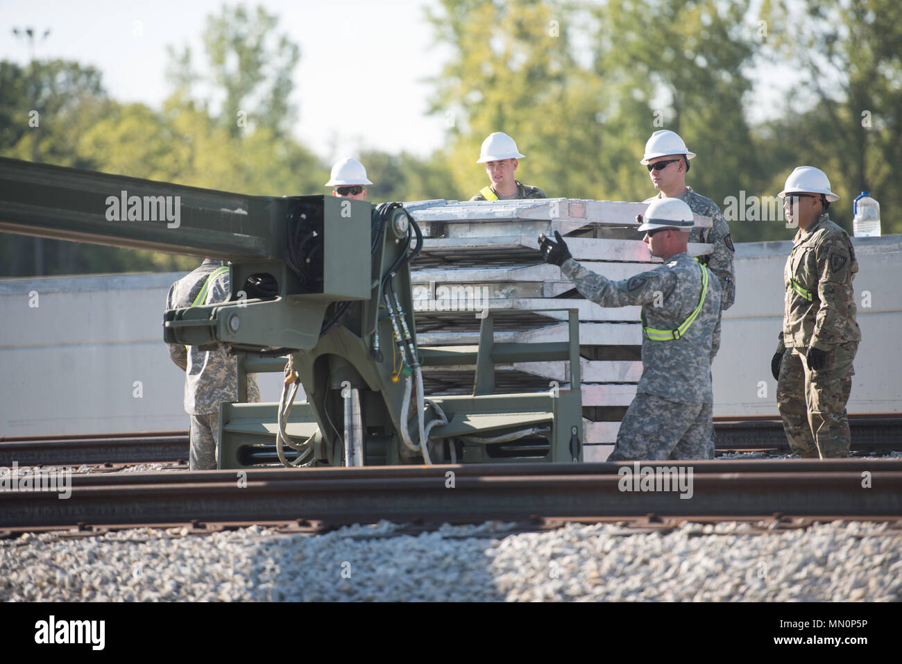
[[[902,519],[902,459],[500,464],[71,475],[0,492],[0,531],[321,521]],[[683,469],[641,490],[649,473]],[[646,470],[648,469],[648,470]],[[692,475],[688,475],[688,470]],[[624,490],[631,487],[630,490]],[[671,489],[671,490],[667,490]]]

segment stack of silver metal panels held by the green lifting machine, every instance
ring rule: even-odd
[[[420,346],[475,346],[484,309],[494,314],[497,342],[566,341],[566,311],[579,309],[586,460],[606,457],[642,374],[640,308],[605,309],[585,300],[557,265],[542,260],[538,235],[566,236],[575,260],[612,280],[660,263],[652,258],[636,216],[645,203],[574,198],[405,203],[423,231],[423,249],[411,267]],[[710,227],[710,217],[695,216]],[[711,252],[689,244],[689,254]],[[431,315],[434,312],[456,312]],[[474,366],[424,367],[432,393],[470,393]],[[513,363],[496,367],[498,392],[566,387],[566,363]]]

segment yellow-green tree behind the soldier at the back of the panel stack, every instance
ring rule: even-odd
[[[577,195],[584,186],[566,182],[573,172],[567,162],[575,141],[571,129],[582,110],[574,110],[571,97],[584,97],[568,85],[575,69],[568,15],[557,0],[443,0],[440,11],[428,13],[437,41],[452,51],[434,81],[431,110],[451,125],[443,152],[464,198],[485,184],[483,167],[475,161],[483,138],[495,131],[511,134],[528,157],[520,161],[518,178],[549,196],[563,196],[565,190]]]

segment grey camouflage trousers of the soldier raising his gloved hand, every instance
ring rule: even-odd
[[[677,403],[639,392],[608,461],[713,458],[711,416],[710,403]]]

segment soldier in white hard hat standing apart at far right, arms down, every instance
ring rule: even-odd
[[[783,429],[793,454],[848,457],[845,407],[861,341],[851,285],[858,262],[849,234],[827,215],[839,197],[824,171],[797,168],[778,196],[787,219],[798,224],[783,272],[783,329],[770,365]]]

